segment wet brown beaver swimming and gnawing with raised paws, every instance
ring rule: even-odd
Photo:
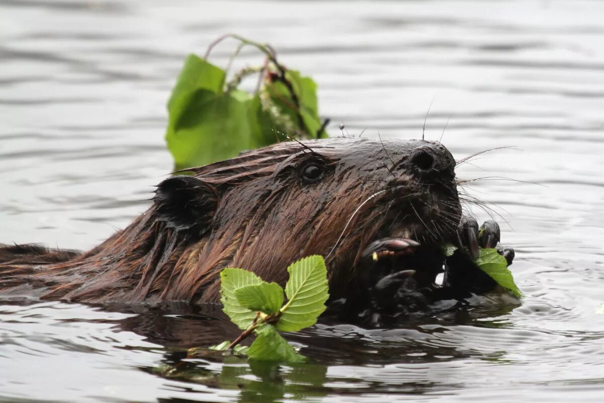
[[[487,292],[496,284],[471,257],[442,252],[447,242],[472,251],[499,240],[496,224],[478,240],[476,222],[463,218],[455,165],[425,140],[329,138],[243,152],[165,179],[152,207],[86,253],[3,245],[0,291],[216,303],[223,268],[284,285],[289,263],[318,254],[333,306],[355,315]],[[511,264],[513,250],[501,253]]]

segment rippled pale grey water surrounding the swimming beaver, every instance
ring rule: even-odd
[[[458,176],[539,184],[467,185],[503,216],[519,308],[322,324],[288,336],[312,364],[249,367],[182,361],[232,337],[216,309],[5,300],[0,401],[602,401],[603,2],[0,0],[0,15],[0,242],[86,249],[141,213],[172,167],[182,60],[228,32],[315,78],[332,134],[417,138],[433,101],[426,138],[449,121],[457,158],[513,146]]]

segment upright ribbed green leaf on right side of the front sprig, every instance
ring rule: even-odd
[[[322,256],[309,256],[288,267],[289,281],[285,286],[288,303],[281,308],[277,329],[295,332],[312,326],[325,311],[329,297],[327,268]]]

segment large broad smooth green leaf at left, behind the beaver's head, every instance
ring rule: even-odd
[[[266,145],[252,95],[224,92],[224,83],[219,67],[194,54],[185,60],[168,102],[165,134],[176,169],[227,160]]]

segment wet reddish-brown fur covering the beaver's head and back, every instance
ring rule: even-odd
[[[338,297],[378,234],[439,242],[460,219],[455,163],[443,146],[384,145],[281,143],[191,169],[159,184],[149,210],[87,253],[0,247],[0,288],[34,282],[46,298],[86,302],[217,301],[225,267],[283,284],[289,263],[321,254]],[[422,147],[442,158],[425,172],[411,164]],[[323,177],[305,183],[301,172],[311,163]]]

